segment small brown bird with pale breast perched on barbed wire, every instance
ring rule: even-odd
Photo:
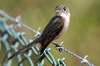
[[[34,41],[15,52],[12,56],[8,58],[8,60],[14,58],[21,53],[26,52],[32,46],[37,46],[38,44],[41,45],[39,49],[40,55],[43,54],[44,50],[53,40],[58,39],[63,33],[65,33],[65,31],[68,29],[69,23],[69,8],[65,5],[57,5],[55,8],[55,16],[51,18],[49,23],[44,28],[42,34]]]

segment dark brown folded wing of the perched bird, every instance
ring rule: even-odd
[[[63,18],[60,16],[55,16],[51,19],[51,21],[45,27],[43,33],[41,34],[41,48],[40,53],[44,51],[44,49],[52,42],[62,31],[64,27]]]

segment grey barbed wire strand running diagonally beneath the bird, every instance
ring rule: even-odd
[[[30,30],[31,32],[35,33],[34,37],[39,37],[39,36],[41,35],[41,33],[39,32],[40,27],[39,27],[37,30],[34,30],[34,29],[28,27],[27,25],[23,24],[23,22],[21,21],[21,16],[17,16],[16,18],[13,18],[13,17],[9,16],[8,14],[6,14],[6,13],[5,13],[4,11],[2,11],[2,10],[0,10],[0,15],[2,15],[3,17],[5,17],[5,18],[11,20],[12,22],[16,23],[17,26],[24,27],[24,28]],[[86,55],[84,58],[82,58],[82,57],[78,56],[77,54],[75,54],[75,53],[73,53],[73,52],[71,52],[71,51],[65,49],[65,48],[62,46],[63,41],[62,41],[60,44],[58,44],[58,43],[56,43],[56,42],[51,42],[51,43],[52,43],[53,45],[55,45],[55,46],[57,47],[57,49],[58,49],[60,52],[64,51],[64,52],[67,52],[67,53],[71,54],[72,56],[78,58],[78,59],[81,61],[82,64],[87,64],[88,66],[94,66],[93,64],[91,64],[91,63],[86,59],[86,58],[87,58],[87,55]],[[50,50],[50,49],[49,49],[49,50]],[[44,52],[44,54],[45,54],[45,52]],[[44,56],[44,55],[40,56],[40,58],[41,58],[41,57],[43,58],[43,56]]]

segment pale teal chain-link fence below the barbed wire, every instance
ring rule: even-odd
[[[25,46],[26,44],[32,41],[30,40],[28,42],[26,38],[24,37],[24,35],[25,35],[25,32],[16,32],[14,30],[14,25],[8,25],[6,24],[6,21],[4,18],[0,18],[0,49],[2,48],[3,44],[6,48],[6,54],[5,56],[3,56],[4,58],[2,60],[2,64],[0,63],[1,64],[0,66],[11,66],[12,59],[6,62],[6,59],[12,55],[11,52],[12,51],[17,52],[19,44],[22,46]],[[10,41],[8,41],[8,39],[10,39]],[[34,65],[43,66],[44,58],[47,58],[50,64],[54,66],[61,66],[61,65],[66,66],[66,64],[64,63],[65,59],[62,58],[55,61],[53,55],[50,53],[50,50],[51,50],[50,48],[46,49],[44,51],[44,54],[40,56],[38,53],[39,48],[32,47],[31,50],[27,51],[27,53],[23,53],[17,56],[18,66],[23,66],[24,60],[28,60],[30,66],[34,66]],[[36,64],[33,61],[34,59],[32,60],[31,58],[33,54],[41,57],[41,60],[38,60]]]

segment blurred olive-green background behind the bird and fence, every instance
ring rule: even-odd
[[[58,4],[69,7],[71,22],[67,32],[56,42],[64,41],[63,46],[65,48],[81,57],[88,55],[89,62],[99,66],[100,0],[0,0],[0,9],[12,17],[21,15],[24,24],[35,30],[42,27],[40,30],[42,32],[45,25],[55,15],[54,9]],[[26,37],[33,39],[34,34],[32,32],[24,28],[17,31],[27,32]],[[67,66],[80,66],[79,59],[65,52],[60,55],[53,45],[49,45],[49,47],[52,48],[51,52],[55,59],[65,57]],[[2,52],[0,52],[0,58],[2,58]],[[15,61],[13,64],[16,66]],[[47,61],[44,66],[46,65],[51,66]]]

